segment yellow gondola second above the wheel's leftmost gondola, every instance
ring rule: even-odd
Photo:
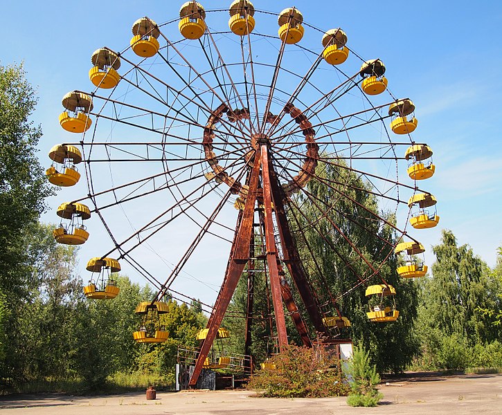
[[[120,81],[118,68],[120,57],[108,48],[95,50],[91,56],[93,67],[89,71],[89,79],[98,88],[110,89],[117,86]]]

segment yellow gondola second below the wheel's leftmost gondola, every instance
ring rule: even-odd
[[[89,285],[84,287],[84,295],[91,299],[113,299],[120,292],[112,273],[120,271],[120,264],[113,258],[92,258],[87,262],[86,269],[93,273]],[[95,274],[96,277],[95,277]]]

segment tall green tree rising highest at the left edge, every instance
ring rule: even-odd
[[[23,66],[0,65],[0,297],[5,351],[3,358],[0,353],[0,379],[17,377],[12,340],[19,333],[21,307],[33,300],[38,284],[33,266],[37,258],[26,247],[33,243],[33,225],[51,194],[35,156],[42,136],[41,128],[30,121],[36,103]]]

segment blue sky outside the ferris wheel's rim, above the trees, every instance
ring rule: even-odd
[[[49,148],[69,141],[57,122],[60,100],[73,89],[89,89],[87,72],[93,50],[101,46],[123,50],[136,19],[146,15],[161,24],[177,17],[181,3],[3,2],[0,62],[24,62],[28,80],[37,86],[34,120],[44,131],[39,145],[42,165],[49,165]],[[227,8],[231,1],[202,3],[213,9]],[[452,230],[459,243],[472,246],[490,266],[495,263],[496,247],[502,246],[501,4],[254,2],[257,9],[274,12],[296,6],[309,24],[323,30],[343,28],[359,55],[385,62],[391,91],[415,102],[420,124],[413,137],[434,151],[436,175],[427,189],[438,199],[441,216],[438,228],[413,232],[427,248],[429,263],[433,261],[431,245],[438,243],[443,228]],[[228,15],[222,15],[226,21]],[[86,192],[81,187],[76,194]],[[70,199],[62,193],[49,201],[53,210],[44,216],[45,221],[57,221],[54,209],[63,199]],[[82,265],[88,257],[100,255],[90,251],[82,249]],[[222,253],[224,263],[227,255]],[[210,295],[193,295],[211,302]]]

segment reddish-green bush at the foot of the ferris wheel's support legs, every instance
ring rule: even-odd
[[[289,345],[269,360],[275,369],[262,369],[251,376],[248,389],[276,398],[324,398],[346,396],[346,379],[336,358],[322,350]]]

